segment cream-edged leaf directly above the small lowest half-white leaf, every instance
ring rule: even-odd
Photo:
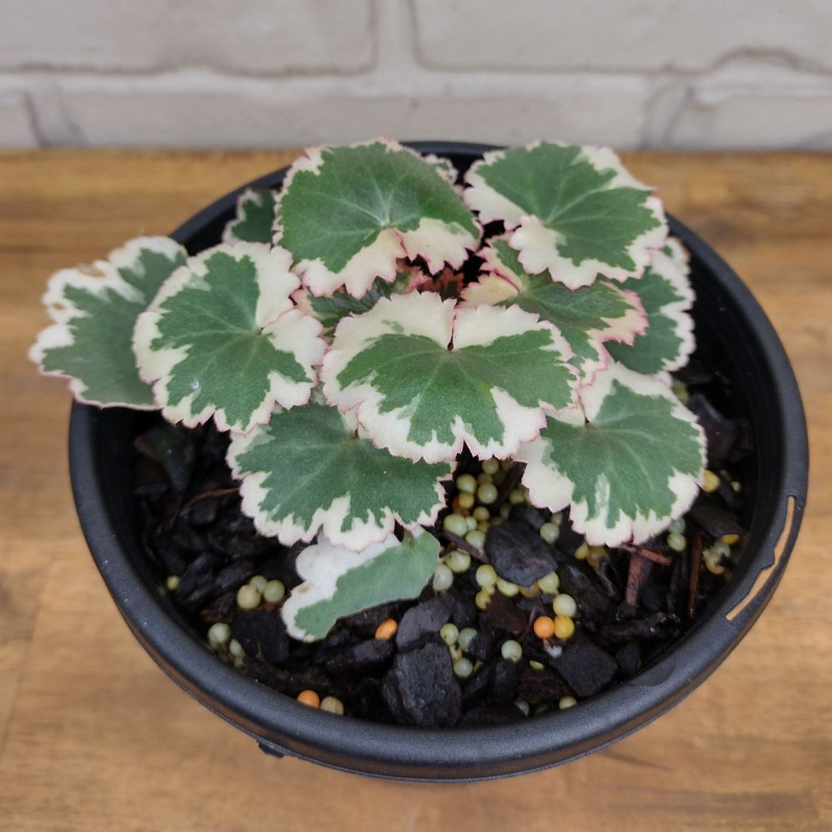
[[[291,545],[321,530],[355,550],[388,535],[394,522],[435,522],[445,504],[441,482],[452,473],[449,463],[391,456],[365,438],[353,414],[315,401],[233,438],[228,461],[243,480],[243,512],[260,532]]]

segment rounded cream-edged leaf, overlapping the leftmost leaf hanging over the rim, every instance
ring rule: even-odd
[[[245,432],[275,402],[309,400],[325,344],[290,300],[299,283],[290,260],[261,243],[217,245],[162,286],[134,348],[165,418],[193,427],[213,416],[220,430]]]

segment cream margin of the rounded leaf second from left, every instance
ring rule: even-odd
[[[188,355],[188,347],[151,349],[152,342],[160,337],[159,323],[164,313],[161,305],[186,288],[199,285],[207,272],[207,260],[223,253],[235,260],[250,258],[255,265],[260,296],[257,300],[255,320],[262,334],[268,336],[275,349],[289,352],[310,376],[310,382],[292,382],[279,373],[269,375],[269,392],[251,414],[245,426],[232,425],[225,409],[206,405],[198,412],[191,408],[194,396],[186,396],[177,404],[169,404],[167,385],[171,374]],[[151,384],[156,404],[162,415],[171,423],[182,423],[186,428],[214,418],[220,431],[248,433],[257,424],[268,422],[275,404],[285,408],[306,404],[312,389],[318,383],[315,370],[321,363],[326,342],[320,338],[319,321],[295,309],[290,294],[300,285],[300,279],[290,271],[292,256],[280,247],[270,248],[266,243],[220,243],[200,254],[189,257],[186,265],[177,269],[161,286],[148,309],[139,315],[133,330],[133,352],[141,379]]]

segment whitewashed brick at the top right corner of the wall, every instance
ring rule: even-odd
[[[701,70],[732,53],[832,67],[830,0],[413,0],[418,56],[452,70]]]

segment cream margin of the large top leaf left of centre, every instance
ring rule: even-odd
[[[449,174],[444,167],[443,160],[438,156],[425,159],[424,156],[410,147],[399,144],[398,141],[389,139],[386,136],[378,136],[367,141],[355,141],[349,148],[362,147],[380,144],[391,153],[406,151],[416,156],[420,161],[427,161],[433,168],[436,175],[445,184],[451,184],[454,191],[458,189],[449,181]],[[335,148],[333,145],[320,145],[307,148],[305,156],[300,156],[293,162],[289,172],[286,174],[283,188],[280,194],[275,197],[275,227],[274,242],[280,245],[283,236],[283,226],[280,225],[280,208],[284,196],[290,191],[292,181],[300,171],[309,171],[317,174],[324,165],[324,151]],[[341,146],[337,146],[341,147]],[[448,162],[448,164],[450,164]],[[453,166],[452,166],[453,168]],[[461,196],[461,195],[460,195]],[[464,203],[463,203],[464,204]],[[320,258],[314,260],[300,260],[295,263],[293,270],[301,276],[305,286],[313,295],[332,295],[333,292],[344,286],[350,295],[356,298],[364,297],[373,285],[374,280],[381,278],[391,283],[396,277],[396,260],[407,258],[414,260],[421,256],[428,264],[431,273],[443,269],[447,263],[454,269],[458,269],[465,260],[468,260],[469,252],[476,250],[482,236],[482,226],[475,217],[471,217],[473,225],[478,229],[478,235],[473,237],[460,228],[459,233],[454,233],[448,225],[441,220],[432,217],[425,217],[419,225],[411,231],[399,231],[394,228],[381,230],[375,240],[364,249],[357,252],[344,265],[339,272],[329,270],[324,261]]]

